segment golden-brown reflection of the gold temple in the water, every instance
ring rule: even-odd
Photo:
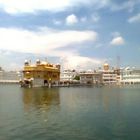
[[[31,106],[48,108],[51,105],[60,104],[59,88],[23,88],[22,91],[25,110]]]

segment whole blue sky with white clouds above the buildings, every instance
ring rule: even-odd
[[[140,0],[0,0],[0,66],[140,68]]]

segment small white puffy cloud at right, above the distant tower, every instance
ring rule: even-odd
[[[110,42],[111,45],[113,46],[119,46],[119,45],[124,45],[124,39],[121,36],[115,37],[112,39]]]

